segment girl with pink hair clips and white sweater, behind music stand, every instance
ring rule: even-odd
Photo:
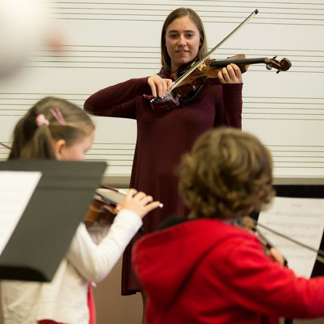
[[[18,121],[9,159],[83,161],[94,129],[81,108],[63,99],[44,98]],[[84,223],[78,226],[51,282],[2,281],[5,324],[95,324],[90,281],[108,275],[142,226],[142,218],[158,205],[151,196],[130,189],[108,231],[97,226],[92,238]]]

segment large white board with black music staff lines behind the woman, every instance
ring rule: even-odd
[[[194,9],[213,48],[255,9],[212,58],[287,57],[287,72],[251,65],[244,77],[242,127],[271,150],[277,182],[324,179],[324,3],[304,1],[149,0],[53,1],[49,13],[66,39],[60,57],[46,47],[19,73],[0,80],[0,141],[10,145],[17,120],[44,96],[80,107],[99,89],[160,68],[160,31],[178,7]],[[136,141],[134,120],[93,117],[96,139],[89,160],[106,160],[105,175],[128,179]],[[8,150],[0,147],[0,159]],[[322,181],[322,180],[320,180]]]

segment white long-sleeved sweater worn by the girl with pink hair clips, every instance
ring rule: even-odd
[[[115,217],[108,233],[99,228],[92,238],[85,224],[80,224],[50,283],[2,282],[5,324],[35,324],[41,319],[88,324],[88,282],[107,276],[141,226],[142,219],[125,209]],[[100,236],[104,237],[100,240]]]

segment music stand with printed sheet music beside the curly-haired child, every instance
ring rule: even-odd
[[[277,185],[273,204],[258,215],[257,229],[288,260],[298,276],[324,274],[324,265],[316,252],[263,228],[281,233],[318,251],[322,249],[324,230],[324,185]]]

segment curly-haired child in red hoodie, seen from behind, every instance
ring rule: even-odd
[[[178,172],[187,219],[168,218],[133,248],[148,323],[324,316],[324,277],[297,277],[242,222],[274,196],[271,155],[256,137],[210,130],[183,156]]]

